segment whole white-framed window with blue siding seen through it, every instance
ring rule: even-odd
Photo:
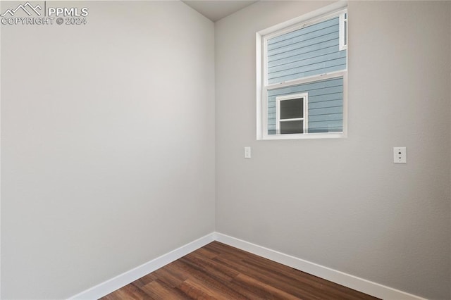
[[[348,15],[336,6],[257,33],[257,139],[346,137]]]

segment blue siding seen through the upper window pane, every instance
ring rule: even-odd
[[[338,39],[338,17],[268,39],[268,84],[345,70]]]

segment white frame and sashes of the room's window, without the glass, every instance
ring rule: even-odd
[[[347,3],[345,1],[338,1],[317,11],[307,13],[298,18],[288,20],[266,30],[257,32],[257,140],[264,139],[330,139],[330,138],[344,138],[347,137],[347,68],[336,72],[323,73],[309,77],[303,77],[297,80],[288,80],[285,82],[278,82],[268,85],[266,78],[267,70],[267,40],[278,35],[283,35],[287,32],[298,30],[308,25],[319,23],[323,20],[328,20],[338,16],[340,18],[340,27],[347,30]],[[347,49],[347,32],[340,30],[340,50]],[[347,56],[348,57],[348,56]],[[346,64],[347,65],[347,64]],[[321,132],[309,133],[304,131],[302,134],[277,134],[278,122],[276,121],[276,135],[268,135],[268,91],[271,89],[280,89],[282,87],[290,87],[292,85],[301,85],[307,82],[328,80],[332,78],[343,78],[343,124],[342,132]],[[292,96],[292,95],[287,95]],[[277,109],[277,108],[276,108]],[[307,110],[308,111],[308,110]],[[305,113],[306,111],[304,111]],[[308,113],[308,112],[307,112]],[[276,111],[276,115],[278,113]],[[305,125],[305,123],[304,123]]]

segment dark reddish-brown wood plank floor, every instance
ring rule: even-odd
[[[212,242],[102,299],[377,298]]]

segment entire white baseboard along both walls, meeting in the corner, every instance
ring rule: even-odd
[[[262,256],[264,258],[268,258],[271,261],[276,261],[278,263],[282,263],[283,265],[288,265],[291,268],[295,268],[297,270],[301,270],[305,273],[309,273],[311,275],[315,275],[321,277],[326,280],[330,280],[331,282],[338,283],[339,285],[344,285],[345,287],[350,287],[351,289],[355,289],[359,292],[363,292],[365,294],[369,294],[371,296],[376,296],[385,300],[426,300],[419,296],[415,296],[412,294],[408,294],[406,292],[402,292],[398,289],[393,289],[391,287],[386,287],[385,285],[379,285],[376,282],[371,282],[369,280],[365,280],[363,278],[356,277],[354,275],[350,275],[347,273],[342,273],[338,270],[333,270],[331,268],[324,267],[323,265],[318,265],[316,263],[311,263],[309,261],[304,261],[301,258],[297,258],[295,256],[290,256],[287,254],[283,254],[281,252],[265,248],[264,246],[259,246],[257,244],[252,244],[242,239],[237,239],[235,237],[230,237],[228,235],[223,235],[219,232],[212,232],[209,235],[201,237],[200,239],[196,239],[194,242],[190,242],[185,246],[181,246],[178,249],[175,249],[168,254],[164,254],[158,258],[153,259],[143,265],[138,266],[128,272],[125,272],[121,275],[111,278],[111,280],[107,280],[106,282],[102,282],[95,287],[87,289],[85,292],[81,292],[80,294],[76,294],[75,296],[70,297],[70,299],[99,299],[107,294],[116,291],[116,289],[120,289],[121,287],[128,285],[130,282],[133,282],[144,275],[154,272],[164,265],[171,263],[182,256],[190,254],[192,251],[195,251],[206,244],[209,244],[213,241],[218,241],[223,244],[228,244],[229,246],[234,246],[235,248],[242,249],[252,254],[256,254],[258,256]]]

